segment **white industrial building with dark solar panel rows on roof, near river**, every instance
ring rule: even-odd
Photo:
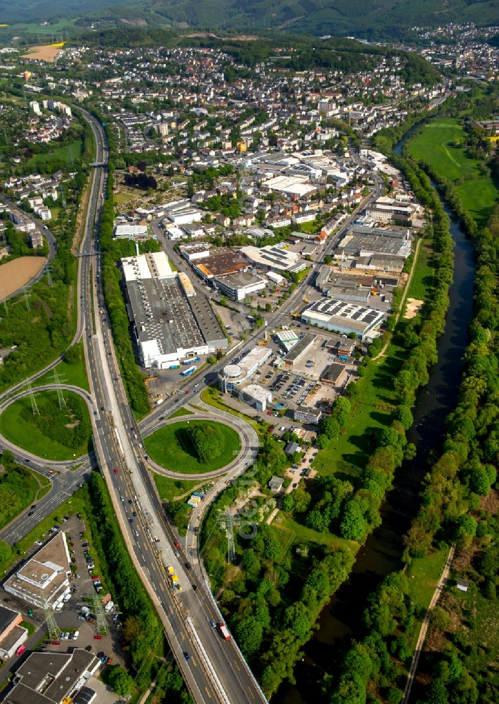
[[[362,340],[367,337],[378,337],[376,331],[381,326],[383,318],[381,310],[356,306],[355,303],[344,301],[331,301],[328,298],[322,298],[302,311],[302,322],[306,325],[317,325],[340,334],[355,332]]]

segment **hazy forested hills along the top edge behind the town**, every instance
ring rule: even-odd
[[[366,39],[398,38],[414,25],[498,20],[497,0],[0,0],[0,23],[61,27],[98,21],[99,28],[161,25],[211,30],[287,30]],[[73,23],[72,23],[73,24]],[[32,30],[33,31],[33,30]]]

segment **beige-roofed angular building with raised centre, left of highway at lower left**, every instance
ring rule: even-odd
[[[66,534],[58,533],[4,582],[4,589],[40,608],[55,609],[70,593]]]

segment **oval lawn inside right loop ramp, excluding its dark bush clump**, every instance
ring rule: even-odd
[[[202,462],[192,445],[189,426],[213,425],[223,433],[223,450],[211,461]],[[207,420],[184,420],[166,425],[144,439],[144,446],[152,459],[162,467],[175,472],[196,474],[212,472],[232,462],[240,451],[238,433],[228,425]]]

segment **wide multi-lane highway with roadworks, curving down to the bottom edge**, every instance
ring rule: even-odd
[[[83,114],[96,137],[95,162],[103,163],[107,160],[104,131],[89,113]],[[99,227],[98,222],[94,227],[94,220],[105,187],[106,170],[96,167],[82,251],[99,251]],[[97,408],[97,415],[92,415],[94,448],[128,549],[159,610],[173,655],[197,703],[209,700],[233,704],[264,702],[265,697],[233,640],[223,641],[210,625],[210,620],[218,622],[221,617],[207,584],[185,567],[189,560],[182,548],[180,558],[175,556],[177,539],[144,465],[139,429],[121,381],[105,313],[99,254],[82,257],[80,272],[85,360]],[[248,453],[253,456],[257,439],[250,439],[250,444]],[[244,465],[241,470],[243,468]],[[135,517],[130,515],[134,511]],[[170,565],[178,573],[183,587],[181,592],[171,585],[166,572]],[[193,584],[197,589],[192,588]],[[188,653],[190,660],[187,661],[183,653]]]

